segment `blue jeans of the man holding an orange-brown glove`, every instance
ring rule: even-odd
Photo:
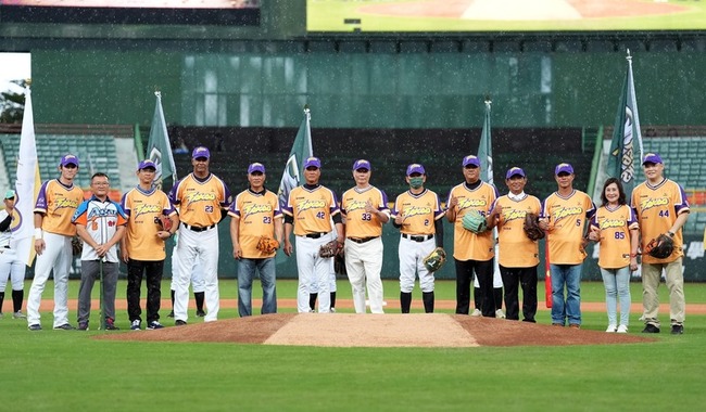
[[[277,288],[275,287],[275,258],[245,259],[238,261],[238,313],[252,316],[252,281],[255,270],[260,273],[263,301],[262,314],[277,313]]]

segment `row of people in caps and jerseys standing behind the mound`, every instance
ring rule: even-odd
[[[665,259],[642,257],[643,318],[646,323],[643,332],[659,332],[657,287],[664,269],[670,289],[671,331],[683,333],[685,305],[681,228],[689,216],[689,204],[683,189],[664,178],[664,164],[657,154],[651,153],[644,157],[646,181],[633,191],[630,206],[627,205],[620,181],[609,179],[602,192],[603,205],[597,210],[590,196],[573,189],[573,168],[566,163],[555,168],[557,191],[540,202],[525,193],[527,176],[521,168],[507,170],[505,183],[509,193],[500,196],[493,185],[480,179],[478,157],[468,155],[462,162],[464,181],[451,189],[445,208],[442,208],[439,196],[425,188],[427,176],[424,166],[412,164],[405,177],[409,190],[396,197],[390,210],[386,193],[369,182],[371,165],[365,159],[354,163],[352,175],[355,186],[343,193],[339,203],[332,191],[319,184],[320,160],[307,158],[303,165],[304,183],[291,190],[287,204],[280,208],[277,195],[264,186],[264,165],[255,163],[249,166],[250,188],[232,199],[226,184],[210,172],[210,157],[206,147],[194,149],[193,172],[176,182],[168,195],[153,184],[154,163],[140,163],[137,170],[139,184],[123,196],[121,204],[108,198],[110,184],[104,173],[96,173],[91,178],[93,195],[83,202],[83,191],[73,185],[78,158],[73,155],[62,157],[59,167],[61,176],[42,184],[35,208],[35,249],[38,257],[27,302],[29,330],[41,329],[38,309],[52,269],[55,280],[53,326],[73,329],[67,319],[66,281],[71,265],[71,253],[67,250],[74,233],[78,233],[85,243],[78,308],[80,330],[88,329],[90,291],[99,272],[106,286],[106,329],[115,327],[118,243],[119,258],[128,267],[127,300],[131,327],[141,327],[139,295],[143,274],[148,285],[147,327],[162,327],[159,309],[160,283],[166,256],[164,241],[177,234],[177,231],[179,241],[173,279],[175,324],[187,324],[188,287],[197,261],[204,278],[204,321],[215,321],[219,309],[216,224],[225,217],[222,210],[227,210],[231,217],[234,258],[240,261],[239,285],[243,285],[239,286],[241,316],[251,314],[252,279],[256,273],[263,280],[262,312],[277,310],[276,252],[257,249],[256,244],[262,235],[275,237],[282,244],[287,256],[294,252],[297,254],[298,311],[312,310],[311,285],[318,285],[318,311],[329,311],[331,258],[322,258],[318,250],[322,245],[336,240],[345,257],[355,311],[365,313],[367,289],[370,311],[382,313],[381,231],[382,224],[390,220],[401,232],[401,310],[403,313],[409,312],[412,291],[418,276],[425,311],[432,312],[434,276],[425,268],[423,259],[436,247],[443,248],[442,218],[445,217],[454,228],[456,313],[469,313],[470,284],[475,278],[480,291],[476,299],[480,312],[484,317],[495,317],[495,239],[490,229],[497,227],[497,259],[505,287],[507,318],[519,319],[518,288],[521,286],[524,320],[534,322],[539,245],[522,231],[525,215],[533,213],[541,216],[540,226],[547,232],[552,324],[564,326],[568,323],[569,327],[580,327],[581,266],[585,258],[584,246],[592,240],[602,245],[598,265],[608,298],[608,332],[627,332],[630,297],[627,297],[626,306],[626,284],[630,271],[638,267],[640,239],[644,247],[651,239],[667,233],[676,244],[671,256]],[[489,230],[475,233],[464,227],[463,218],[470,210],[486,216]],[[159,216],[169,217],[172,228],[157,229],[154,222]],[[292,233],[294,243],[291,242]],[[12,240],[8,242],[7,248],[12,250]],[[619,323],[615,309],[616,295],[620,296]]]

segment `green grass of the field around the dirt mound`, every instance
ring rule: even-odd
[[[640,285],[632,285],[639,301]],[[77,287],[72,281],[71,297]],[[235,281],[220,287],[224,298],[235,298]],[[51,291],[49,283],[45,298]],[[295,282],[278,282],[280,297],[294,291]],[[386,291],[396,299],[396,282],[386,282]],[[660,292],[667,301],[664,284]],[[685,294],[690,304],[706,302],[704,284],[686,284]],[[454,282],[438,282],[437,296],[453,299]],[[344,281],[339,297],[350,298]],[[603,301],[602,284],[583,283],[582,297]],[[631,333],[639,333],[638,316]],[[235,309],[220,314],[235,317]],[[51,313],[42,318],[49,326]],[[538,319],[549,323],[549,313]],[[690,314],[684,335],[663,333],[639,345],[376,349],[104,342],[89,338],[104,333],[98,331],[30,333],[26,322],[5,316],[0,404],[8,411],[696,411],[706,401],[705,322]],[[124,311],[118,324],[127,327]],[[584,313],[583,327],[604,329],[605,313]]]

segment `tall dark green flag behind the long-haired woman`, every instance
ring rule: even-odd
[[[607,175],[620,179],[628,198],[635,186],[635,173],[642,162],[642,134],[635,85],[632,77],[632,56],[628,50],[628,69],[622,82],[620,103],[616,114],[613,140],[608,152]]]

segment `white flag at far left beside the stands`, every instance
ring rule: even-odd
[[[20,137],[20,155],[17,157],[17,179],[15,181],[15,216],[12,226],[12,248],[17,250],[27,266],[35,259],[35,199],[41,186],[39,162],[37,160],[37,142],[35,139],[35,119],[31,110],[31,91],[25,89],[25,112],[22,119]]]

